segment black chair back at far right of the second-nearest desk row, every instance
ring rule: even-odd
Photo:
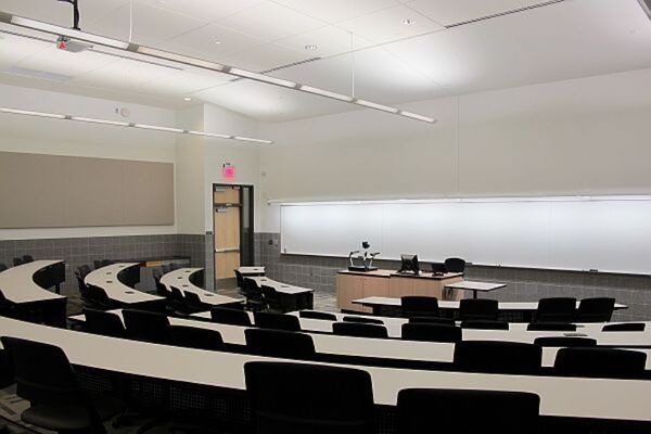
[[[553,370],[558,375],[636,379],[644,374],[647,355],[629,349],[561,348]]]

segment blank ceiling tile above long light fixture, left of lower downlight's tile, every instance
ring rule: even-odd
[[[165,42],[162,47],[183,54],[196,55],[219,62],[229,54],[244,51],[265,42],[263,39],[233,31],[216,24],[208,24],[178,36]]]

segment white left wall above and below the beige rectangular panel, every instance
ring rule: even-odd
[[[124,120],[116,107],[127,106],[128,122],[175,125],[175,112],[0,85],[0,106]],[[0,151],[105,158],[176,161],[176,138],[169,133],[0,114]],[[47,209],[43,209],[46,213]],[[174,226],[0,230],[0,239],[67,238],[176,233]]]

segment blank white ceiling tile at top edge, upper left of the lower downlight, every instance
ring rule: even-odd
[[[321,21],[269,1],[218,20],[217,24],[266,40],[286,38],[323,26]]]

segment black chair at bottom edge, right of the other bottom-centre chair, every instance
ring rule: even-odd
[[[524,392],[406,388],[398,393],[398,434],[538,432],[540,397]]]

